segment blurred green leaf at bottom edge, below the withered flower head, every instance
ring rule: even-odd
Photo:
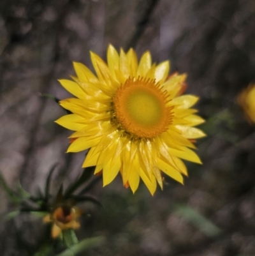
[[[86,238],[77,245],[73,245],[67,250],[65,250],[62,253],[59,253],[55,256],[74,256],[77,255],[80,252],[83,252],[84,250],[91,249],[94,247],[100,246],[105,241],[105,237],[98,236],[98,237],[92,237],[92,238]]]

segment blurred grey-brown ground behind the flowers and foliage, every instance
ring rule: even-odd
[[[41,94],[66,98],[57,79],[73,75],[72,61],[91,67],[89,50],[105,58],[108,43],[170,59],[188,73],[187,93],[208,134],[198,142],[203,165],[187,163],[185,186],[166,179],[151,197],[135,195],[120,179],[89,194],[103,209],[82,205],[80,239],[105,243],[80,255],[254,256],[255,127],[236,103],[255,82],[254,0],[1,0],[0,169],[11,186],[35,193],[57,163],[54,191],[81,172],[84,153],[68,153],[70,132],[54,120],[64,110]],[[255,100],[255,99],[254,99]],[[40,218],[20,215],[0,188],[1,255],[35,255],[48,230]],[[88,209],[88,210],[87,210]]]

